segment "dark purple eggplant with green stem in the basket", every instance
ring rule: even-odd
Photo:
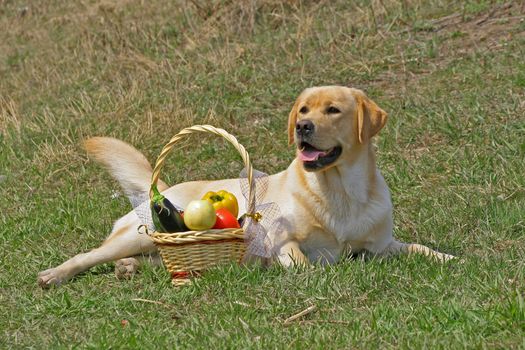
[[[164,197],[157,186],[151,188],[153,197],[151,199],[151,217],[157,231],[159,232],[182,232],[188,228],[184,225],[181,213],[175,206]]]

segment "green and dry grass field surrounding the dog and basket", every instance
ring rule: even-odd
[[[4,0],[0,28],[0,348],[525,348],[521,1]],[[131,209],[84,138],[153,161],[210,123],[272,173],[294,155],[295,97],[329,84],[389,113],[376,144],[395,235],[461,261],[232,266],[180,290],[108,264],[37,287]],[[241,168],[215,139],[169,163],[172,184]]]

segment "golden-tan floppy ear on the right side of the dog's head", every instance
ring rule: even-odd
[[[354,93],[357,102],[357,137],[359,143],[365,143],[385,126],[387,113],[363,92]]]

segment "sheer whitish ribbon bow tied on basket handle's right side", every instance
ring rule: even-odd
[[[253,191],[255,206],[250,212],[248,173],[243,169],[239,177],[241,191],[246,198],[246,220],[243,224],[248,256],[269,258],[272,255],[272,243],[269,233],[279,232],[281,212],[277,203],[262,203],[268,190],[268,175],[253,170]]]

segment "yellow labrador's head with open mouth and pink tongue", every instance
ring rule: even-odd
[[[288,140],[309,171],[327,169],[351,155],[385,125],[387,114],[361,90],[343,86],[304,90],[288,120]]]

